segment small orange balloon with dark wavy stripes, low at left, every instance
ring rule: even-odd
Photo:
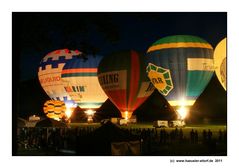
[[[59,121],[65,115],[66,106],[63,101],[47,100],[44,103],[43,111],[48,118]]]

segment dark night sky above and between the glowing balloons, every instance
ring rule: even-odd
[[[47,98],[39,83],[37,71],[41,59],[56,49],[78,49],[85,53],[108,55],[125,49],[146,52],[148,47],[159,38],[168,35],[187,34],[199,36],[214,48],[227,37],[227,13],[13,13],[13,76],[18,86],[17,96],[21,100],[20,116],[40,110],[41,103]],[[13,85],[14,85],[13,83]],[[32,86],[34,85],[34,86]],[[29,94],[34,92],[32,100]],[[25,89],[25,90],[24,90]],[[160,118],[154,106],[165,107],[158,103],[162,99],[155,92],[142,107],[136,110],[139,118]],[[32,101],[29,108],[25,106]],[[207,104],[211,100],[210,107]],[[19,99],[16,99],[19,103]],[[109,105],[107,105],[107,103]],[[193,115],[202,120],[227,116],[226,92],[214,75],[204,93],[192,108]],[[111,107],[109,101],[105,109]],[[149,109],[146,114],[142,111]],[[200,109],[200,110],[199,110]],[[110,110],[109,110],[110,111]],[[165,110],[162,110],[165,111]],[[203,111],[203,112],[202,112]],[[157,115],[156,115],[157,113]],[[151,117],[150,117],[151,116]],[[142,119],[143,120],[143,119]]]

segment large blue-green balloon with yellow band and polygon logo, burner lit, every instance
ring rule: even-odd
[[[146,72],[181,119],[203,92],[213,72],[213,48],[202,38],[175,35],[159,39],[147,51]]]

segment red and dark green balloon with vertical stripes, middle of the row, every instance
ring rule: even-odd
[[[145,57],[135,51],[104,57],[98,67],[98,79],[126,120],[154,91],[145,73]]]

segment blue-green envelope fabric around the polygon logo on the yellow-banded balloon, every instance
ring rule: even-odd
[[[170,71],[173,89],[160,92],[169,103],[174,102],[171,105],[182,98],[190,105],[195,102],[213,75],[212,54],[211,45],[194,36],[163,38],[149,48],[148,62]]]

